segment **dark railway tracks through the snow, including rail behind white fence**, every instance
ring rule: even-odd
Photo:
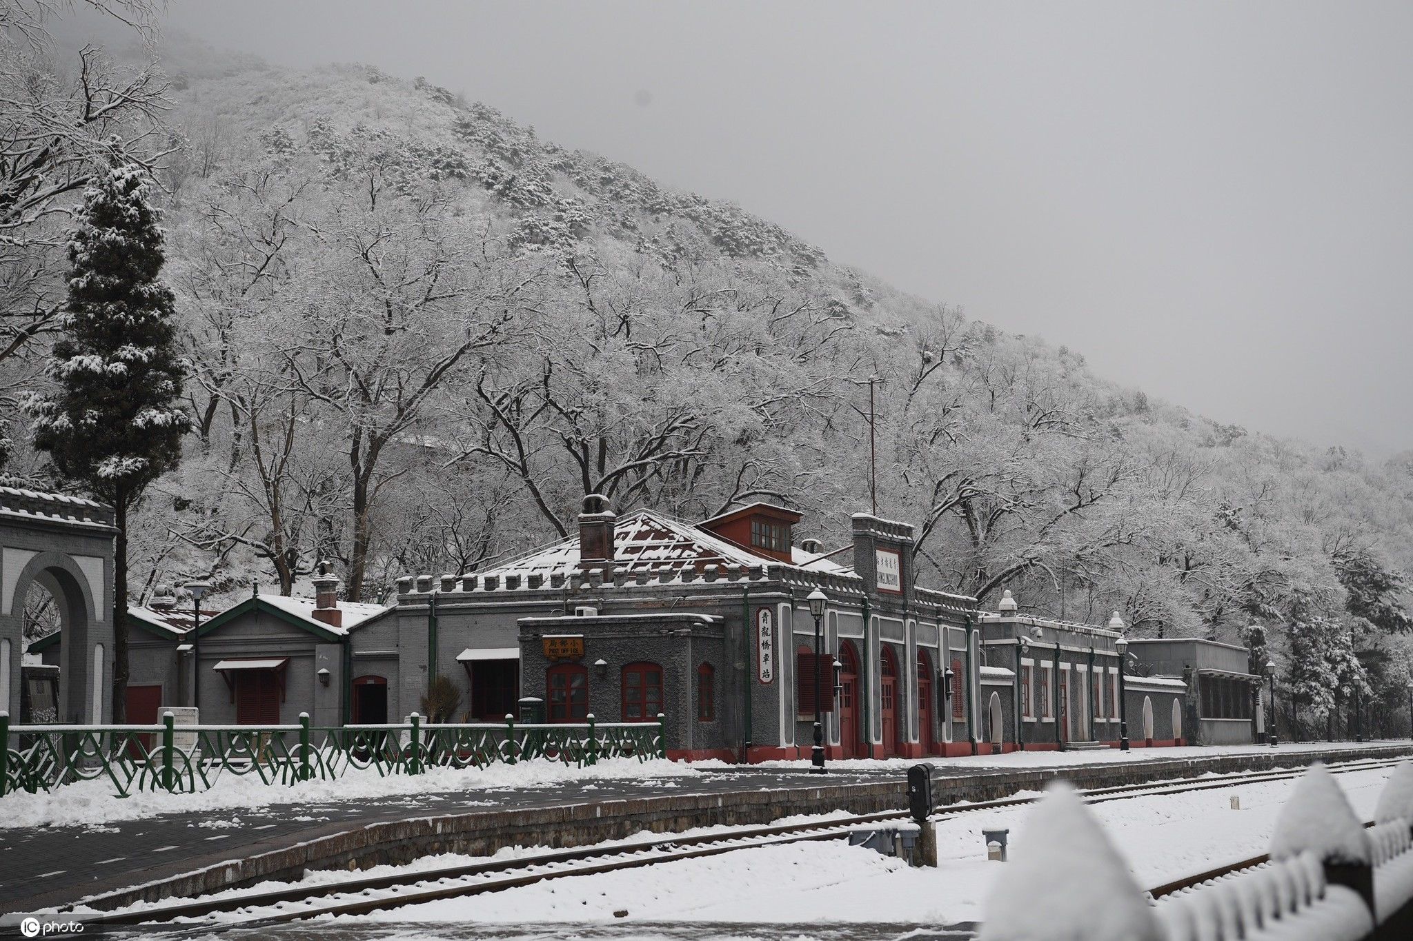
[[[1330,765],[1337,775],[1392,767],[1400,758],[1358,759]],[[1304,769],[1214,775],[1195,780],[1154,784],[1128,784],[1081,791],[1085,803],[1132,800],[1161,794],[1231,787],[1299,777]],[[955,804],[940,808],[930,820],[941,821],[966,814],[1019,807],[1037,797],[1006,797],[999,800]],[[278,889],[233,892],[191,901],[157,904],[120,913],[81,914],[81,921],[100,921],[106,928],[122,925],[168,924],[170,935],[194,931],[260,930],[290,921],[315,917],[359,916],[370,911],[422,904],[442,899],[502,892],[528,886],[547,879],[585,876],[619,869],[651,866],[712,856],[736,849],[770,846],[814,839],[842,839],[859,830],[877,828],[909,820],[907,811],[882,811],[853,817],[804,824],[740,827],[692,837],[664,837],[647,841],[599,844],[577,849],[557,849],[514,859],[486,859],[437,869],[404,870],[383,876],[339,879],[336,882],[290,885]],[[1188,879],[1159,886],[1150,892],[1154,899],[1207,879],[1260,865],[1265,856],[1243,859],[1229,866],[1198,873]],[[226,917],[233,916],[233,917]],[[144,937],[154,935],[148,928]]]

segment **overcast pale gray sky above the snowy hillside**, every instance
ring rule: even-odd
[[[1218,420],[1413,447],[1410,3],[177,0],[731,199]]]

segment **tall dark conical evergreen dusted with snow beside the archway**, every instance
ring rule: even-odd
[[[113,506],[113,720],[126,718],[127,515],[181,459],[191,419],[178,405],[182,363],[172,292],[158,279],[162,231],[136,164],[114,161],[83,193],[69,236],[55,389],[27,403],[34,443],[55,470]]]

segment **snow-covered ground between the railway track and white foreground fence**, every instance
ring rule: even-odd
[[[1337,775],[1355,813],[1373,814],[1388,770]],[[1139,885],[1265,852],[1293,782],[1115,800],[1092,806]],[[1241,810],[1231,799],[1241,799]],[[585,923],[615,920],[755,924],[879,921],[945,925],[981,920],[1000,866],[986,861],[982,827],[1010,828],[1010,854],[1026,852],[1029,807],[966,814],[938,825],[938,868],[911,869],[897,859],[842,841],[788,844],[571,876],[468,899],[434,901],[365,916],[398,923]],[[435,934],[435,933],[432,933]]]

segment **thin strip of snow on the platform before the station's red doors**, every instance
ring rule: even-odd
[[[1369,742],[1369,745],[1409,745],[1407,739]],[[1116,748],[1082,751],[1082,752],[1009,752],[1006,755],[966,755],[961,758],[887,758],[866,759],[848,758],[834,759],[829,767],[839,770],[906,770],[913,765],[927,763],[948,770],[976,767],[976,769],[1022,769],[1022,767],[1068,767],[1072,765],[1108,765],[1116,762],[1161,762],[1178,758],[1214,758],[1224,755],[1299,755],[1301,752],[1317,752],[1323,749],[1364,748],[1351,742],[1299,742],[1270,748],[1269,745],[1184,745],[1181,748],[1135,748],[1121,752]],[[1340,760],[1340,759],[1334,759]],[[1303,762],[1301,762],[1303,763]],[[787,762],[762,762],[753,767],[774,769],[805,769],[810,759]]]

